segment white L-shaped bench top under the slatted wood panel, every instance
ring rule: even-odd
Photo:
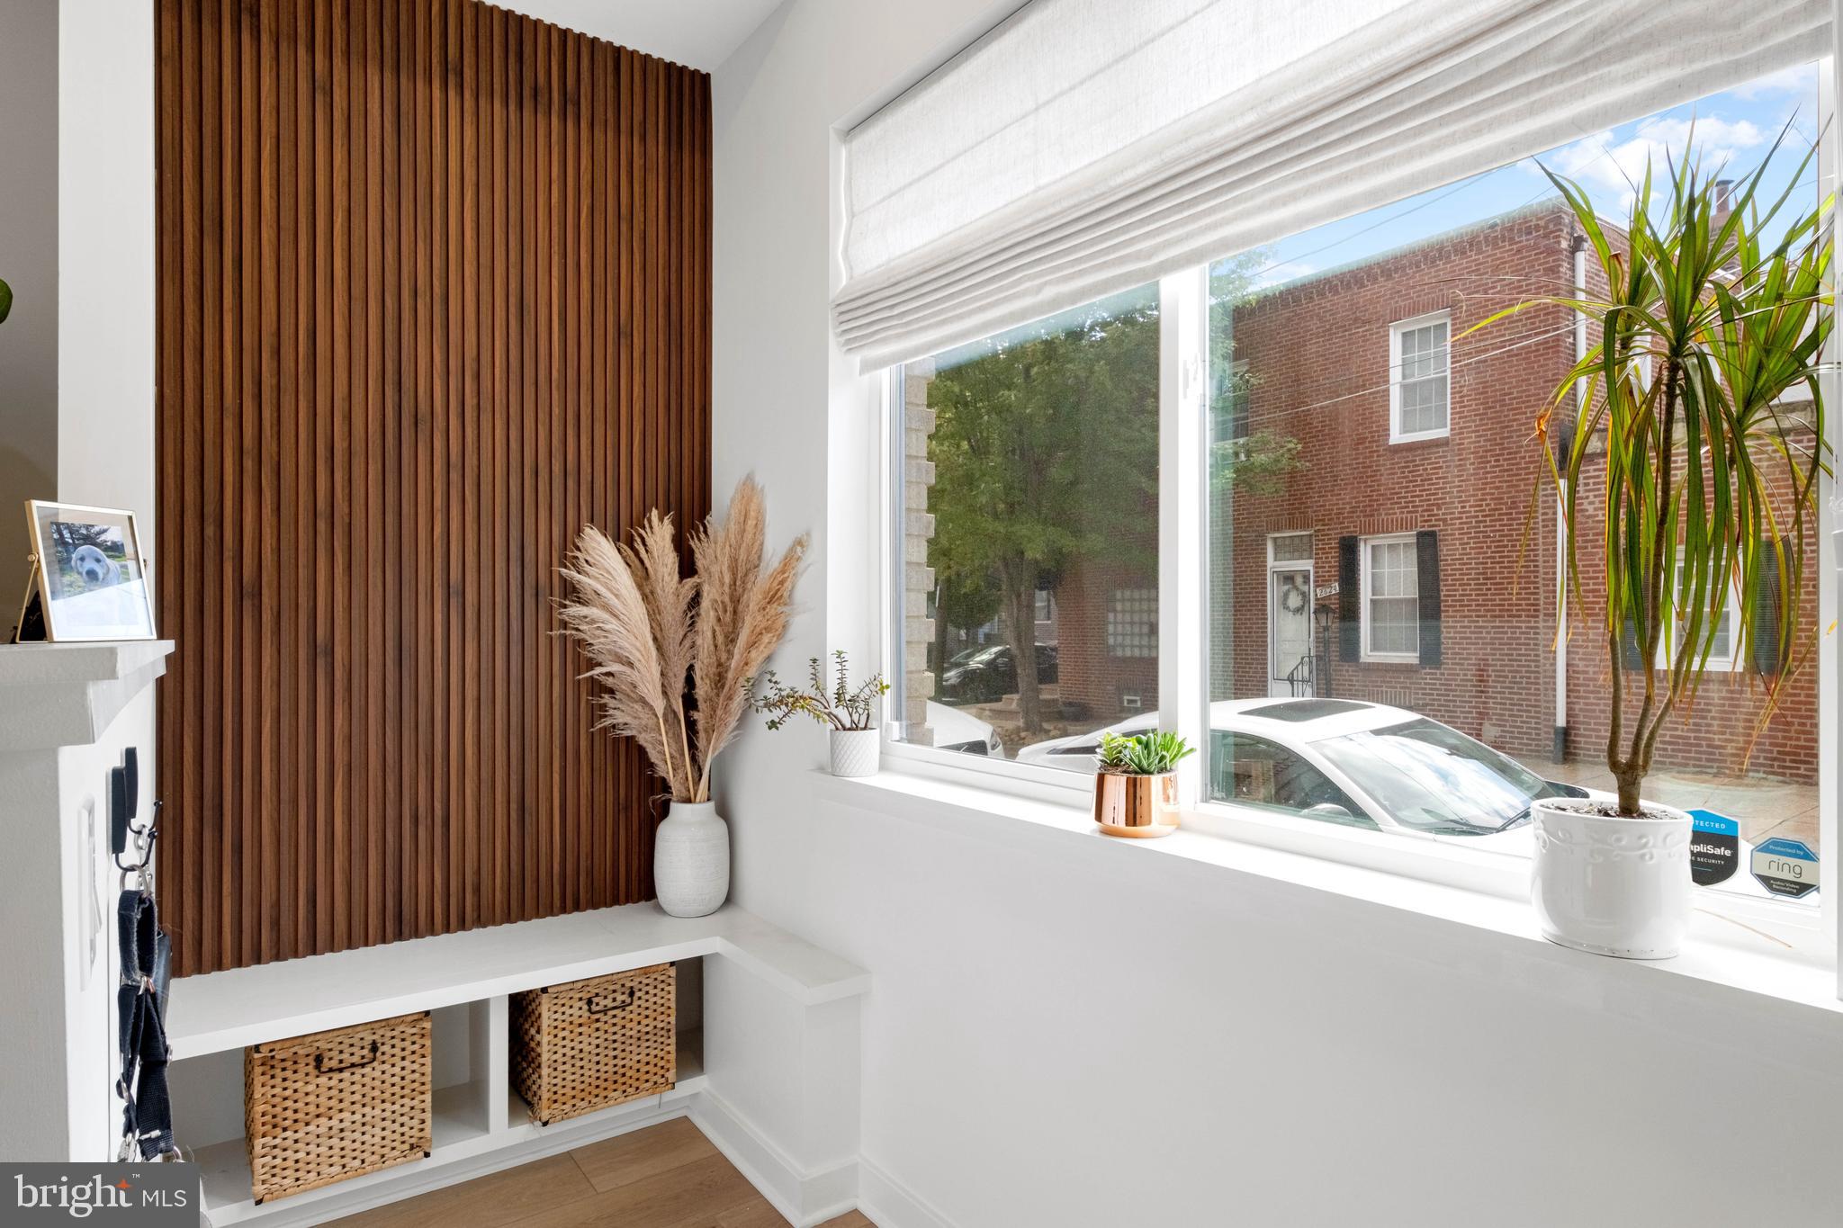
[[[857,965],[734,904],[697,919],[623,904],[186,976],[166,1035],[188,1059],[693,956],[735,959],[804,1005],[870,989]]]

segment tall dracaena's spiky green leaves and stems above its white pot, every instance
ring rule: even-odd
[[[1762,724],[1810,650],[1797,648],[1799,593],[1817,479],[1830,471],[1819,381],[1832,324],[1830,201],[1791,203],[1810,155],[1782,191],[1764,188],[1775,160],[1793,162],[1784,140],[1732,188],[1732,210],[1723,210],[1729,184],[1690,151],[1657,199],[1646,168],[1624,237],[1579,184],[1544,168],[1605,289],[1535,298],[1476,326],[1561,306],[1598,330],[1535,436],[1567,528],[1568,593],[1583,611],[1583,562],[1603,569],[1592,587],[1603,585],[1607,768],[1622,816],[1640,814],[1659,735],[1694,703],[1731,591],[1751,595],[1771,576],[1786,595],[1773,609],[1742,602],[1731,626],[1738,659],[1755,644],[1778,655],[1762,683]],[[1810,400],[1786,401],[1797,387]],[[1585,552],[1594,536],[1598,560]]]

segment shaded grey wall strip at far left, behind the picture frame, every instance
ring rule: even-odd
[[[24,499],[57,495],[57,0],[0,6],[0,641],[26,587]]]

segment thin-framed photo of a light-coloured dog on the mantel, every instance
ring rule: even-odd
[[[26,608],[37,597],[46,641],[157,637],[147,556],[133,512],[26,499]],[[24,615],[20,622],[24,628]]]

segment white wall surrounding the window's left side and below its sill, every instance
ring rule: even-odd
[[[767,484],[778,536],[815,530],[787,663],[874,643],[877,600],[874,423],[826,319],[829,127],[982,18],[789,0],[715,74],[713,466],[719,492]],[[828,447],[864,466],[831,497]],[[927,1222],[918,1204],[964,1228],[1843,1222],[1837,1016],[828,801],[820,751],[752,729],[719,801],[737,898],[872,970],[883,1228]]]

